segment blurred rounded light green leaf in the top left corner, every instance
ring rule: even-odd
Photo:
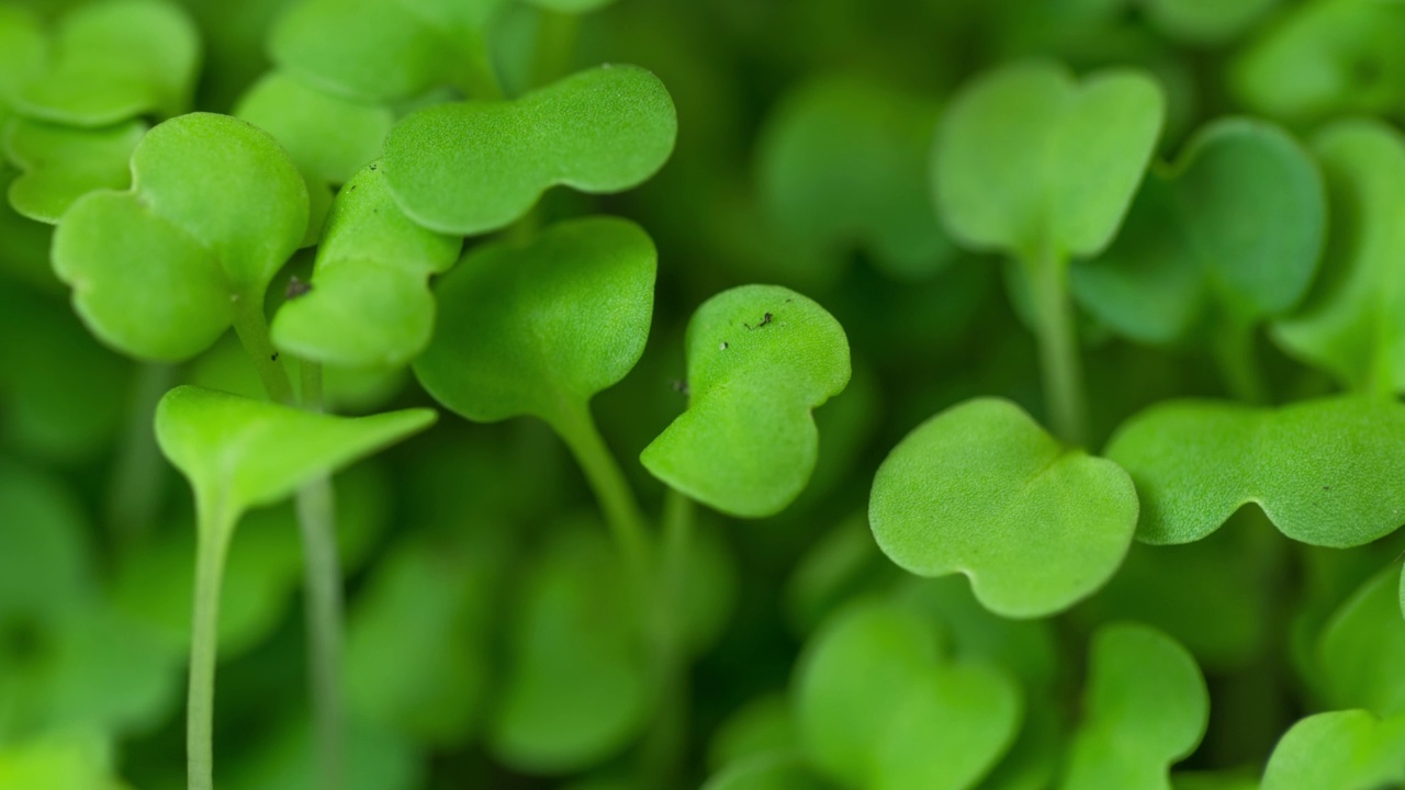
[[[37,119],[105,127],[169,117],[190,103],[200,34],[174,3],[104,0],[65,15],[44,67],[15,80],[13,104]]]

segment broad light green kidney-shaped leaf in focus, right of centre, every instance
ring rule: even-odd
[[[909,433],[878,467],[868,520],[889,559],[961,572],[1006,617],[1062,611],[1117,571],[1137,492],[1117,464],[1065,447],[1019,406],[981,398]]]

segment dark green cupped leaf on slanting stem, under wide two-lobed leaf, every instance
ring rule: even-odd
[[[475,247],[434,285],[440,312],[414,375],[475,422],[569,420],[643,353],[656,259],[638,225],[610,216]]]

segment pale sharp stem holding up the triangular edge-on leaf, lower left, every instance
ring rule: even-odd
[[[191,607],[185,759],[190,790],[215,787],[215,662],[219,652],[219,586],[233,524],[221,507],[200,507],[195,597]]]

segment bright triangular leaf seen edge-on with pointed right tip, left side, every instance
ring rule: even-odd
[[[250,509],[309,479],[419,433],[430,409],[336,417],[200,387],[177,387],[156,408],[156,441],[195,489],[205,519],[233,529]]]

